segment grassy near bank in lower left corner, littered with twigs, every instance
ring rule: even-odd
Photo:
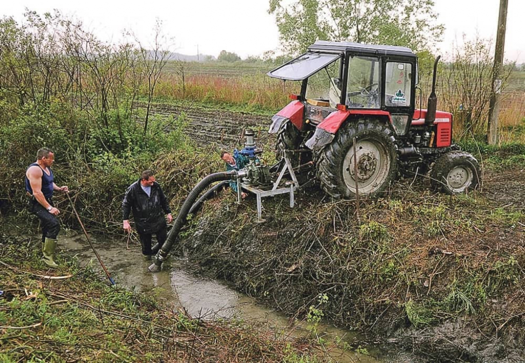
[[[0,269],[0,361],[318,361],[304,340],[172,312],[152,296],[108,286],[98,273],[63,256],[51,274],[73,276],[41,278],[49,271],[35,247],[34,241],[0,234],[8,265]]]

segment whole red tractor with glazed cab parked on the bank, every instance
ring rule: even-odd
[[[353,198],[356,189],[373,198],[399,174],[429,170],[433,186],[443,192],[476,188],[477,160],[452,143],[452,114],[436,111],[438,60],[427,109],[415,109],[418,69],[412,50],[314,43],[268,72],[301,81],[300,95],[291,95],[272,118],[277,158],[287,151],[296,167],[314,161],[323,190],[334,198]],[[421,104],[421,90],[419,99]]]

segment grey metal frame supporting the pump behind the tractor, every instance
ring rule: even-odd
[[[292,164],[290,162],[290,159],[288,157],[288,153],[291,152],[289,150],[284,150],[284,157],[285,164],[282,166],[282,169],[279,173],[279,177],[277,177],[277,180],[272,185],[272,188],[270,190],[264,190],[255,188],[255,186],[241,182],[242,178],[240,175],[237,175],[237,203],[240,204],[242,201],[242,190],[246,190],[250,193],[254,193],[257,197],[257,223],[262,223],[265,220],[262,219],[262,198],[265,196],[272,196],[272,195],[278,195],[278,194],[290,194],[290,208],[293,208],[293,205],[295,204],[293,192],[295,192],[299,186],[299,182],[297,181],[297,177],[295,175],[295,172],[293,171]],[[285,175],[286,171],[290,173],[291,181],[287,182],[287,186],[279,186],[281,183],[282,177]]]

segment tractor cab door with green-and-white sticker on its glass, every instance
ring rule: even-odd
[[[398,135],[406,134],[414,115],[414,70],[415,65],[406,59],[384,60],[382,108],[390,112]]]

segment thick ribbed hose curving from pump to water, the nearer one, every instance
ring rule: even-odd
[[[166,260],[168,254],[170,253],[171,247],[175,240],[177,239],[178,233],[181,231],[182,226],[186,223],[186,217],[190,212],[195,200],[201,194],[209,184],[221,180],[230,180],[236,178],[237,171],[225,171],[220,173],[213,173],[207,175],[204,179],[199,181],[197,185],[192,189],[190,194],[186,197],[184,203],[182,203],[181,210],[178,211],[178,215],[173,222],[173,227],[166,238],[166,242],[162,245],[161,249],[155,256],[155,261],[151,264],[148,269],[151,272],[159,272],[161,270],[162,263]]]

